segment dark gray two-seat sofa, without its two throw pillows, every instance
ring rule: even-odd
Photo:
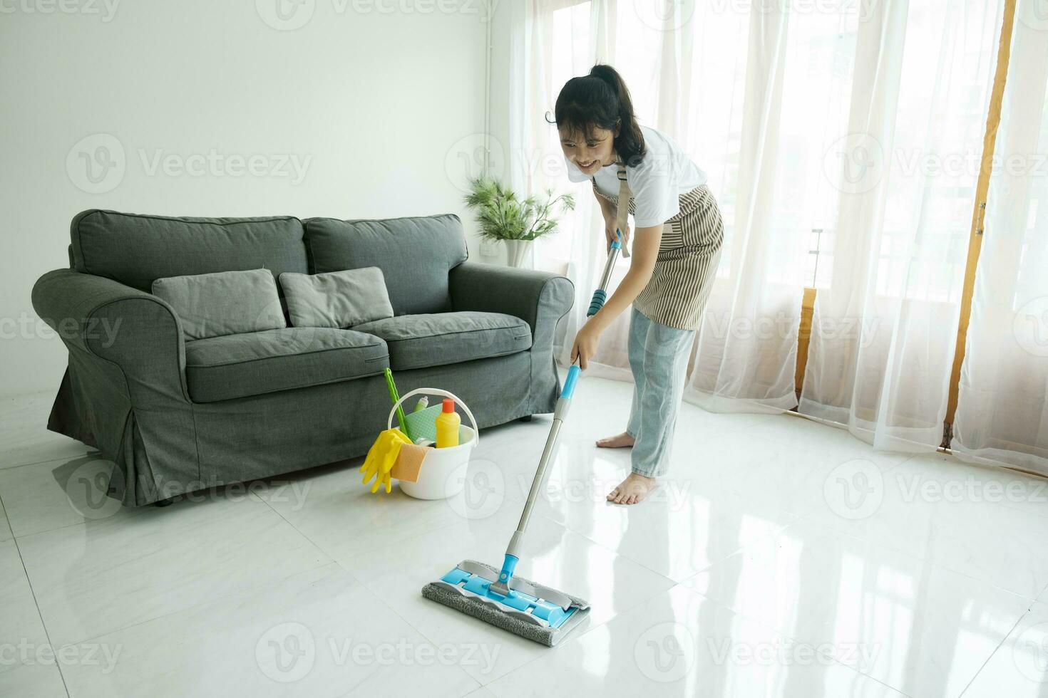
[[[339,221],[78,215],[70,268],[32,307],[69,365],[52,431],[116,464],[109,494],[138,506],[367,452],[391,402],[440,387],[480,427],[553,410],[556,323],[571,283],[466,262],[457,216]],[[188,341],[156,278],[265,268],[275,275],[376,266],[395,316],[349,330],[292,328]],[[288,322],[290,325],[290,322]]]

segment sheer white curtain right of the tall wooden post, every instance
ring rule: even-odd
[[[1043,8],[1043,4],[1041,5]],[[952,448],[1048,474],[1048,21],[1019,0]]]

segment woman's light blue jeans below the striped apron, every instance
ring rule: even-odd
[[[638,475],[664,475],[670,467],[673,431],[694,340],[694,330],[655,322],[633,308],[629,350],[633,406],[626,432],[634,438],[631,457],[633,472]]]

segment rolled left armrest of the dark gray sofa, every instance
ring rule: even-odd
[[[111,278],[57,269],[34,285],[32,308],[70,353],[116,364],[129,392],[162,386],[168,397],[189,401],[181,322],[157,296]]]

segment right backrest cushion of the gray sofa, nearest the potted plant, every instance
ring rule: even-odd
[[[451,310],[447,272],[465,262],[454,213],[378,221],[305,221],[309,273],[378,267],[397,315]]]

